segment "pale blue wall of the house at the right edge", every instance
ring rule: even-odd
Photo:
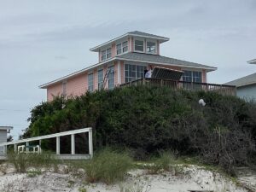
[[[236,96],[249,101],[256,102],[256,84],[236,88]]]

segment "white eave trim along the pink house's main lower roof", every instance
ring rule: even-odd
[[[148,61],[141,61],[141,60],[131,60],[131,59],[126,59],[126,58],[122,58],[122,57],[119,57],[119,55],[113,57],[112,59],[109,59],[107,61],[103,61],[103,62],[99,62],[99,63],[96,63],[90,67],[85,67],[84,69],[81,69],[77,72],[74,72],[74,73],[70,73],[62,78],[59,78],[59,79],[55,79],[53,81],[50,81],[49,83],[46,83],[46,84],[42,84],[39,86],[40,89],[46,89],[47,87],[49,87],[49,85],[52,85],[52,84],[56,84],[56,83],[60,83],[61,81],[63,80],[67,80],[67,79],[70,79],[70,78],[73,78],[81,73],[85,73],[86,71],[89,71],[90,69],[93,69],[95,67],[99,67],[105,63],[108,63],[110,61],[115,61],[115,60],[120,60],[120,61],[135,61],[135,62],[141,62],[141,63],[148,63]],[[218,68],[217,67],[206,67],[206,66],[202,66],[202,67],[194,67],[194,66],[189,66],[189,65],[176,65],[176,64],[172,64],[172,63],[162,63],[162,62],[155,62],[154,61],[154,64],[159,64],[159,65],[167,65],[167,66],[173,66],[173,67],[188,67],[188,68],[199,68],[199,69],[206,69],[207,72],[212,72],[212,71],[215,71],[217,70]]]

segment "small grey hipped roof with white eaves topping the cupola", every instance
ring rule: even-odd
[[[164,43],[166,41],[169,41],[169,38],[165,38],[162,36],[158,36],[158,35],[154,35],[154,34],[150,34],[147,32],[139,32],[139,31],[134,31],[134,32],[127,32],[124,35],[121,35],[117,38],[113,38],[103,44],[97,45],[94,48],[91,48],[90,51],[99,51],[100,48],[102,48],[102,46],[106,46],[108,44],[112,44],[115,41],[118,41],[120,38],[126,38],[126,37],[140,37],[140,38],[154,38],[154,39],[158,39],[160,41],[160,43]]]

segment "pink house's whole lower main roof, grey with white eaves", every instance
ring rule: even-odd
[[[155,64],[160,64],[160,65],[176,66],[176,67],[178,66],[178,67],[203,68],[203,69],[206,69],[207,72],[211,72],[211,71],[214,71],[214,70],[217,69],[217,67],[210,67],[210,66],[201,65],[201,64],[195,63],[195,62],[177,60],[177,59],[173,59],[173,58],[166,57],[166,56],[161,56],[161,55],[152,55],[152,54],[128,52],[128,53],[125,53],[125,54],[122,54],[122,55],[116,55],[112,59],[109,59],[107,61],[99,62],[95,65],[90,66],[90,67],[86,67],[84,69],[81,69],[81,70],[79,70],[75,73],[68,74],[68,75],[66,75],[66,76],[64,76],[60,79],[55,79],[53,81],[50,81],[47,84],[42,84],[42,85],[39,86],[39,88],[45,89],[49,85],[56,84],[56,83],[59,83],[63,80],[73,78],[73,77],[75,77],[75,76],[77,76],[81,73],[85,73],[86,71],[88,71],[90,69],[93,69],[95,67],[99,67],[99,66],[101,66],[105,63],[108,63],[110,61],[116,61],[116,60],[155,63]]]

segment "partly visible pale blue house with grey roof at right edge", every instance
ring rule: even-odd
[[[249,64],[256,64],[256,59],[247,62]],[[236,96],[241,97],[247,102],[256,102],[256,73],[230,81],[226,84],[236,86]]]

